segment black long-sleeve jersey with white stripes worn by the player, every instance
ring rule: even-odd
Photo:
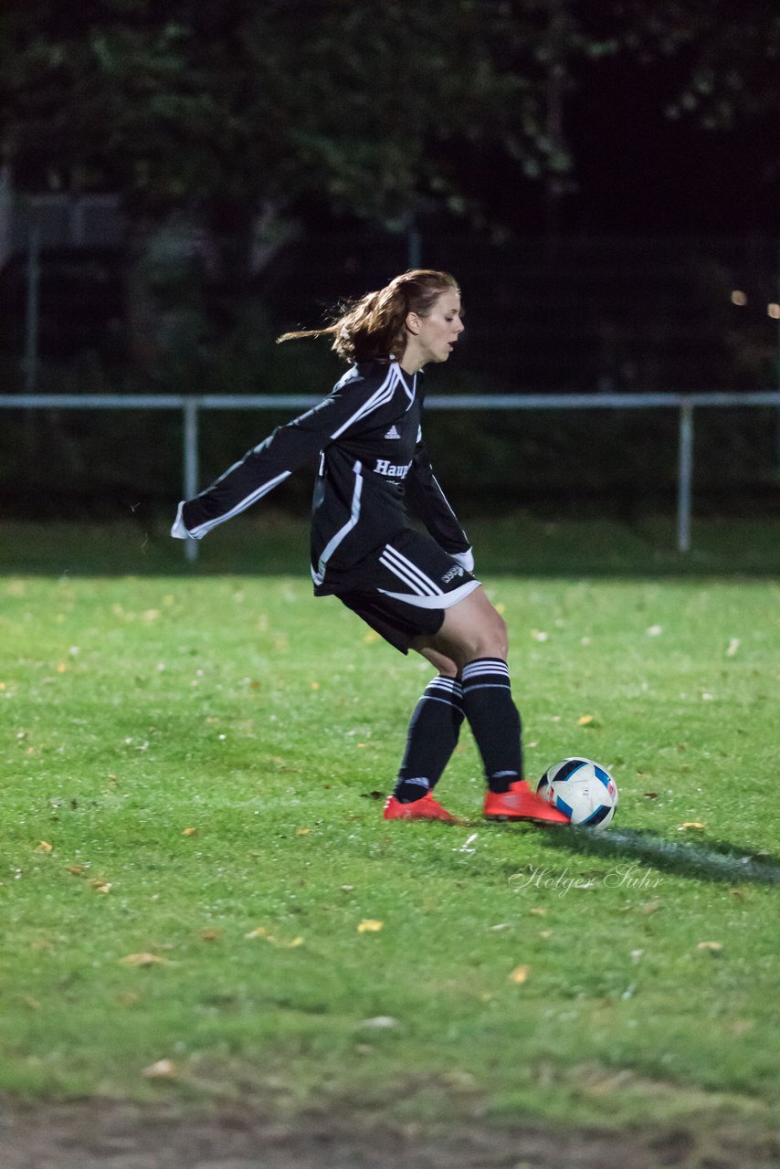
[[[311,525],[318,595],[371,588],[373,567],[386,563],[388,545],[409,531],[410,516],[444,552],[468,552],[469,540],[433,473],[421,414],[416,375],[398,362],[353,366],[318,406],[278,427],[181,504],[173,534],[201,539],[319,458]]]

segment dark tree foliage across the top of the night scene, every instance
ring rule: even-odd
[[[478,217],[485,159],[567,189],[566,102],[621,53],[676,62],[671,117],[776,108],[780,18],[757,0],[6,0],[0,150],[26,186],[153,217],[240,227],[306,198]]]

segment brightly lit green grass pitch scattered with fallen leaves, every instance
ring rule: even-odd
[[[467,822],[382,822],[430,671],[305,569],[63,556],[0,580],[0,1091],[769,1127],[776,581],[485,575],[593,833],[483,823],[467,732]]]

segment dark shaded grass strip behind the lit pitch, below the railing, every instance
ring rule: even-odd
[[[263,509],[226,524],[185,561],[184,545],[168,535],[172,514],[133,513],[106,523],[0,521],[0,573],[74,576],[193,573],[305,573],[309,524]],[[640,513],[633,519],[548,518],[517,511],[465,523],[481,573],[524,576],[778,576],[780,517],[697,517],[692,547],[676,551],[675,520]]]

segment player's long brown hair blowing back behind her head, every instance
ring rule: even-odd
[[[359,300],[341,304],[332,324],[283,333],[277,345],[299,337],[330,334],[333,337],[331,348],[345,361],[400,360],[406,350],[407,316],[410,312],[429,316],[442,292],[449,291],[460,291],[449,272],[415,268],[396,276],[378,292],[367,292]]]

